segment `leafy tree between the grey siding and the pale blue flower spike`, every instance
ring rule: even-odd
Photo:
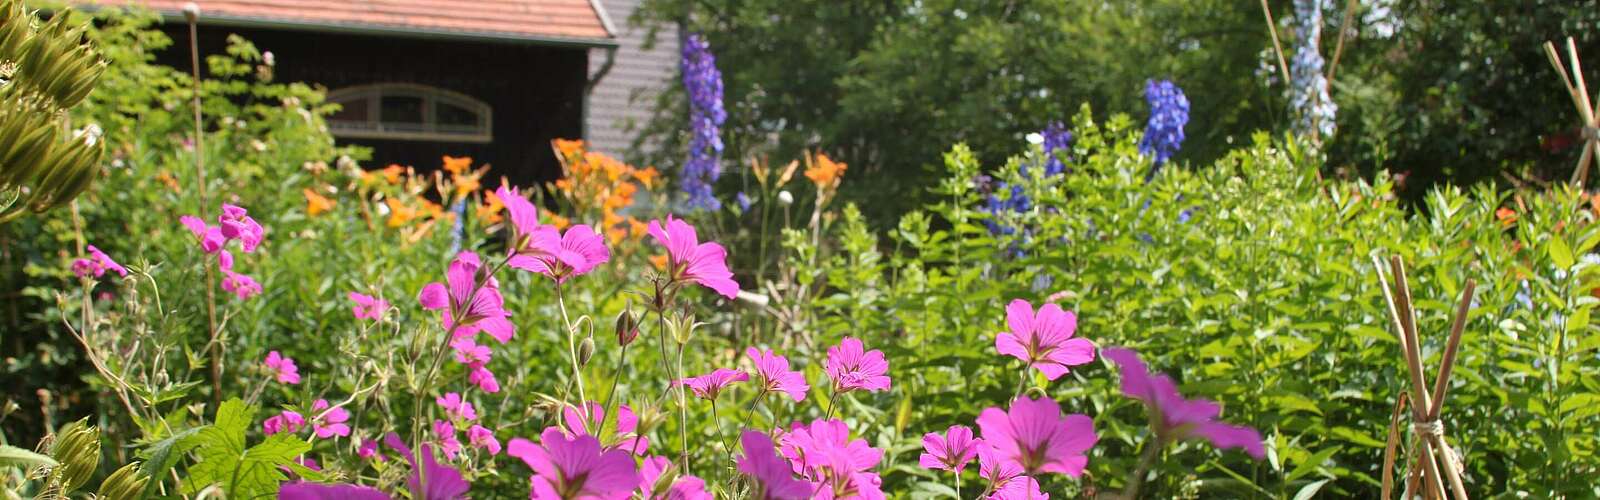
[[[728,168],[821,147],[851,163],[862,181],[846,196],[872,197],[869,216],[883,221],[922,200],[938,144],[965,141],[1000,159],[1082,103],[1142,115],[1146,79],[1173,79],[1195,103],[1181,159],[1213,159],[1230,139],[1272,128],[1282,98],[1256,77],[1270,45],[1261,19],[1246,0],[653,0],[635,21],[710,40],[730,114]],[[638,144],[664,147],[638,160],[675,165],[683,95],[658,104]]]

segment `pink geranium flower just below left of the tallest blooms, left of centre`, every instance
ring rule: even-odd
[[[424,309],[445,309],[445,329],[456,337],[470,337],[478,330],[490,333],[499,343],[507,343],[517,335],[517,325],[507,319],[506,300],[499,293],[493,277],[486,277],[478,285],[478,271],[483,263],[472,252],[461,252],[450,263],[445,272],[445,284],[427,284],[418,293],[418,303]],[[459,322],[456,322],[459,319]]]

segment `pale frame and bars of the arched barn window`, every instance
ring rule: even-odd
[[[422,130],[386,130],[381,120],[384,96],[408,96],[422,99],[422,122],[406,123],[408,128]],[[432,141],[432,143],[491,143],[494,139],[494,109],[488,103],[474,99],[464,93],[450,91],[418,83],[370,83],[339,88],[328,93],[328,103],[346,104],[366,101],[366,120],[326,119],[328,131],[336,138],[350,139],[394,139],[394,141]],[[477,114],[478,127],[467,131],[442,131],[438,123],[438,104],[450,104]],[[461,127],[461,125],[443,125]]]

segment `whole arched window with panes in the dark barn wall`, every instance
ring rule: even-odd
[[[491,109],[461,93],[413,83],[374,83],[328,93],[342,109],[328,117],[339,138],[488,143]]]

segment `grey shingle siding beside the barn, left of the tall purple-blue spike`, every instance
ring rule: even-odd
[[[589,95],[586,115],[586,139],[592,149],[616,157],[627,157],[634,138],[650,120],[656,93],[675,83],[678,71],[678,37],[672,27],[656,35],[656,45],[643,50],[645,26],[632,26],[629,18],[640,0],[602,0],[606,14],[616,27],[616,61],[600,85]],[[589,74],[594,77],[605,66],[605,50],[589,54]],[[645,144],[643,147],[653,147]]]

